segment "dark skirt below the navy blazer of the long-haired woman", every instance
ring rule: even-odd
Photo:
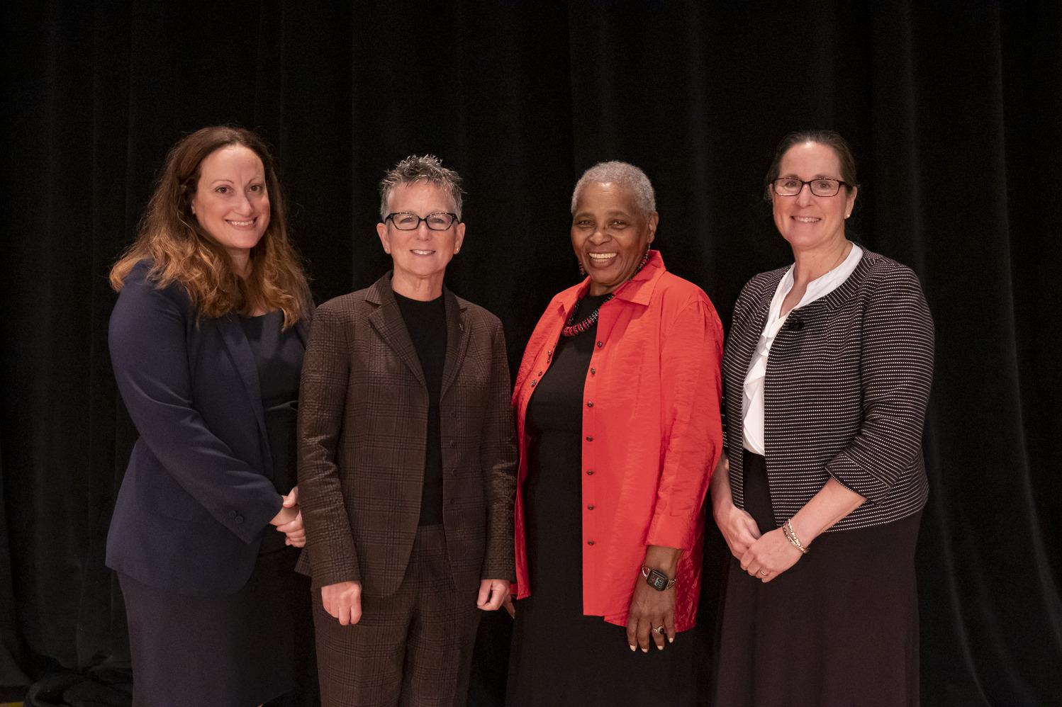
[[[294,572],[297,556],[295,548],[259,555],[246,585],[225,597],[174,594],[119,572],[133,704],[254,707],[296,685],[305,690],[312,648],[297,655],[296,646],[312,637],[310,584]],[[315,683],[290,704],[316,704]]]

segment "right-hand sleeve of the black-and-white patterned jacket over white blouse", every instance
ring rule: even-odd
[[[860,376],[862,421],[826,471],[870,503],[889,495],[922,449],[933,327],[918,277],[891,262],[868,282]]]

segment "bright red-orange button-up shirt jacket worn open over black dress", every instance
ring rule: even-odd
[[[532,590],[523,499],[528,400],[551,363],[565,320],[587,287],[583,281],[549,304],[516,377],[517,599]],[[707,295],[668,273],[660,253],[602,305],[583,387],[584,615],[626,625],[634,583],[643,581],[646,547],[658,545],[683,550],[674,623],[676,631],[693,626],[704,497],[722,450],[722,325]]]

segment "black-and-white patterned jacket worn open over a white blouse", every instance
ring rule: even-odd
[[[744,377],[787,270],[749,280],[726,337],[725,445],[739,508]],[[932,317],[918,277],[866,248],[840,287],[789,313],[764,383],[764,448],[778,525],[830,477],[867,499],[830,531],[898,520],[925,505],[922,424],[932,364]]]

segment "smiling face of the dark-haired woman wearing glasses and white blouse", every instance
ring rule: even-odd
[[[782,156],[780,177],[804,182],[826,177],[841,179],[841,165],[833,148],[818,142],[794,144]],[[793,251],[834,247],[844,240],[844,219],[852,213],[856,189],[841,187],[834,196],[816,196],[804,185],[795,196],[773,194],[774,225]]]

